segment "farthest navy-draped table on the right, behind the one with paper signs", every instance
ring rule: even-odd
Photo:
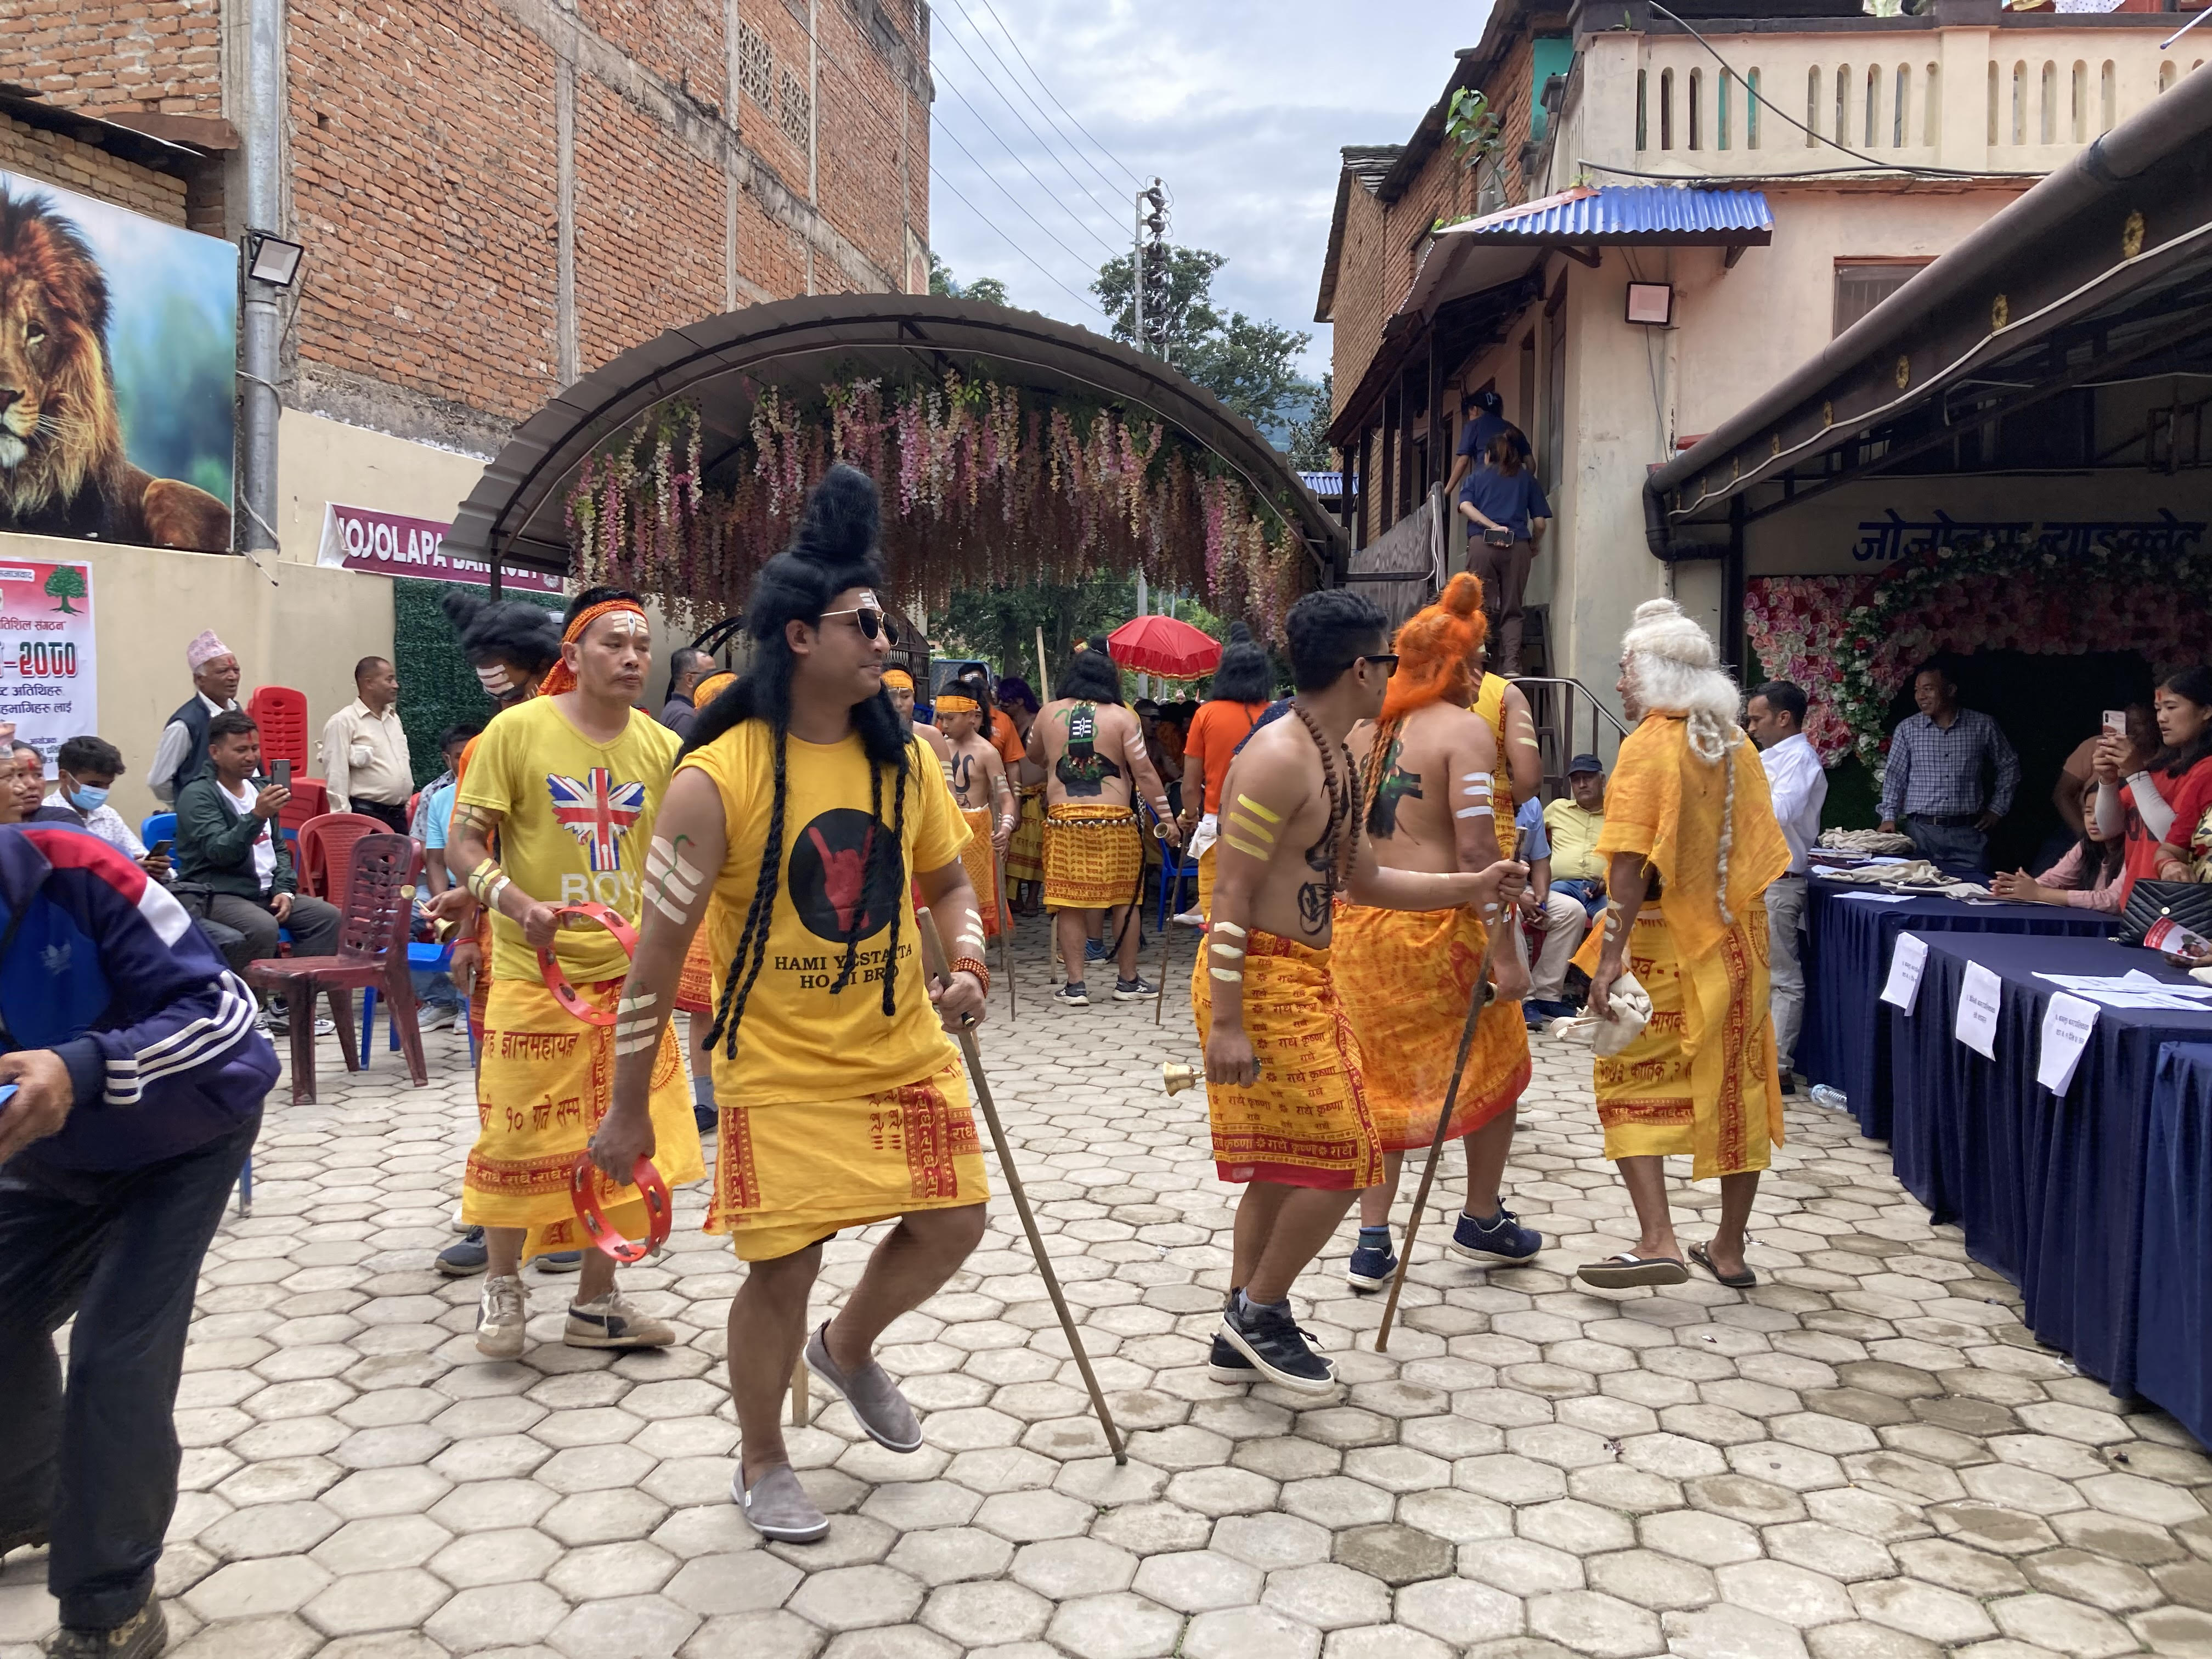
[[[1805,902],[1805,1024],[1796,1068],[1840,1088],[1860,1135],[1889,1139],[1889,1015],[1882,984],[1898,933],[2059,933],[2104,938],[2117,918],[2073,905],[1969,905],[1911,894],[1882,905],[1856,883],[1812,878]]]

